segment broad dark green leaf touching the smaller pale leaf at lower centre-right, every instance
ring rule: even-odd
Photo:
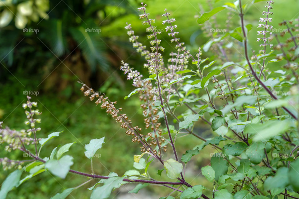
[[[228,159],[228,156],[226,157]],[[218,181],[219,177],[226,174],[228,171],[228,161],[226,161],[221,153],[215,153],[211,157],[211,167],[215,171],[215,180]]]

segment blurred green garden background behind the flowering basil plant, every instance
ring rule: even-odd
[[[214,3],[214,0],[148,0],[145,3],[150,18],[155,18],[157,29],[162,25],[164,9],[176,18],[176,25],[180,32],[179,38],[185,42],[193,54],[210,38],[204,34],[196,20],[204,11],[212,7],[221,6],[225,1]],[[251,1],[244,1],[244,3]],[[259,50],[255,43],[256,30],[265,2],[259,2],[250,8],[245,16],[246,23],[251,23],[253,29],[249,33],[249,44],[254,50]],[[292,6],[290,6],[292,5]],[[25,102],[25,91],[38,91],[38,95],[31,95],[32,101],[38,102],[42,111],[42,123],[38,137],[46,137],[55,131],[64,131],[58,138],[51,140],[42,150],[41,157],[49,156],[58,144],[76,141],[69,152],[74,157],[72,169],[90,172],[90,163],[84,156],[84,145],[94,138],[105,137],[105,144],[101,149],[102,156],[94,159],[96,174],[108,175],[116,172],[122,175],[133,168],[133,155],[140,154],[139,146],[131,143],[125,136],[123,129],[115,125],[115,121],[106,115],[105,111],[89,102],[80,92],[82,81],[95,90],[105,93],[118,106],[123,108],[134,125],[143,126],[142,111],[138,97],[124,100],[124,96],[133,90],[131,81],[119,70],[120,61],[125,60],[131,67],[148,74],[143,69],[144,60],[131,47],[126,35],[126,22],[132,25],[139,41],[145,42],[145,26],[139,20],[137,8],[140,1],[135,0],[1,0],[0,1],[0,121],[4,126],[12,129],[26,128],[26,119],[21,104]],[[275,1],[273,5],[273,25],[277,26],[283,19],[298,18],[298,2],[295,0]],[[226,28],[227,22],[233,28],[239,26],[237,15],[228,15],[222,11],[212,20],[217,28]],[[221,33],[218,33],[218,35]],[[174,50],[167,33],[161,35],[161,45],[165,47],[165,57]],[[241,46],[242,44],[240,44]],[[231,47],[230,47],[231,48]],[[238,51],[235,51],[238,58]],[[203,57],[217,56],[204,53]],[[25,93],[26,94],[26,93]],[[141,116],[141,117],[140,117]],[[206,124],[198,122],[195,130],[203,137],[211,132]],[[182,137],[176,141],[178,153],[182,155],[186,150],[200,144],[192,136]],[[22,153],[5,152],[0,146],[1,157],[23,159]],[[205,153],[206,151],[206,153]],[[191,184],[199,183],[202,178],[197,176],[201,166],[209,164],[211,148],[206,147],[201,156],[194,157],[187,171],[187,178]],[[205,155],[204,155],[205,154]],[[165,154],[171,156],[171,154]],[[159,164],[154,168],[161,169]],[[166,179],[151,169],[153,178]],[[0,172],[0,182],[10,171]],[[192,177],[193,176],[193,177]],[[56,192],[65,188],[75,187],[83,183],[85,178],[69,174],[66,180],[51,177],[48,173],[40,174],[22,184],[9,193],[12,198],[50,198]],[[88,188],[96,181],[75,190],[68,198],[89,198]],[[125,192],[126,187],[121,192]],[[129,190],[131,188],[128,188]],[[165,196],[169,190],[149,187],[153,198]],[[116,194],[118,191],[113,192]],[[145,198],[142,195],[136,197]],[[125,198],[121,193],[118,198]],[[130,198],[130,197],[129,197]]]

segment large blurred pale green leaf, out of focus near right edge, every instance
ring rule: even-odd
[[[255,134],[253,141],[268,141],[269,138],[284,133],[290,125],[290,120],[271,120],[263,124],[248,124],[244,133]]]

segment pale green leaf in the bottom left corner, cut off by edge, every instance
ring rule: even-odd
[[[12,190],[13,187],[17,187],[21,178],[22,170],[15,170],[5,178],[0,190],[0,199],[5,199],[7,193]]]

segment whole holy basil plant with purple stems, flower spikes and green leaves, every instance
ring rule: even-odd
[[[105,138],[101,136],[82,148],[91,164],[91,171],[86,173],[71,169],[75,161],[68,151],[75,142],[61,144],[48,156],[40,156],[43,146],[51,139],[59,140],[62,132],[38,137],[41,129],[36,127],[40,122],[36,116],[40,112],[37,103],[27,96],[23,108],[29,128],[16,131],[1,123],[5,149],[21,150],[26,158],[1,159],[4,169],[14,171],[2,183],[0,199],[45,171],[60,178],[69,173],[85,177],[82,184],[57,193],[52,197],[55,199],[66,198],[88,182],[94,184],[86,193],[91,199],[108,198],[114,189],[127,183],[136,186],[129,191],[132,194],[148,185],[162,185],[168,194],[161,198],[168,199],[298,199],[298,20],[279,22],[279,30],[285,31],[278,35],[274,28],[278,22],[271,17],[273,3],[255,0],[242,4],[238,0],[203,13],[197,22],[209,40],[195,55],[180,42],[175,19],[165,9],[162,24],[174,45],[169,58],[163,54],[162,44],[169,45],[160,39],[161,29],[154,26],[146,4],[141,3],[138,10],[150,48],[138,41],[131,24],[125,28],[133,47],[145,58],[148,74],[141,74],[124,61],[121,70],[135,87],[125,99],[139,95],[144,126],[136,126],[116,102],[81,83],[84,95],[105,109],[140,147],[140,153],[132,157],[134,162],[128,163],[132,168],[108,176],[94,172],[93,159],[98,158],[99,151],[105,153]],[[256,4],[264,4],[265,9],[257,18],[259,38],[255,42],[249,40],[249,35],[256,32],[246,23],[245,13]],[[217,24],[214,15],[219,12],[230,14],[240,25],[234,27],[238,23],[233,20]],[[213,29],[215,25],[217,29]],[[202,129],[208,132],[205,136],[200,134]],[[192,147],[180,154],[175,144],[183,136],[194,139]],[[198,174],[190,176],[186,171],[193,156],[209,160],[200,164]],[[158,164],[160,168],[153,175],[149,169]]]

